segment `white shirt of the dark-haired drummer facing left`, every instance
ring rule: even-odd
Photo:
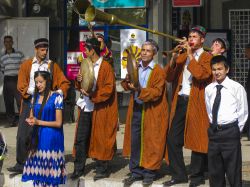
[[[96,81],[98,78],[98,74],[99,74],[99,70],[100,70],[100,66],[102,64],[102,60],[103,57],[100,57],[94,64],[94,75],[95,75],[95,79],[94,79],[94,86],[92,88],[92,91],[94,91],[96,89]],[[81,109],[84,108],[84,112],[92,112],[94,110],[94,103],[89,99],[88,96],[83,96],[83,97],[79,97],[76,105],[78,105]]]

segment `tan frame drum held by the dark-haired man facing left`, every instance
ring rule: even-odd
[[[93,63],[89,58],[81,59],[80,63],[80,73],[82,74],[81,88],[89,93],[94,86],[95,79]]]

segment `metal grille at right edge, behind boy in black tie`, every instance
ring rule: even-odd
[[[250,68],[245,57],[245,46],[250,42],[250,9],[229,10],[229,28],[232,31],[232,79],[245,85]]]

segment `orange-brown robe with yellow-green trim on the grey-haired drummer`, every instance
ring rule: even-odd
[[[122,82],[122,86],[125,90],[128,89],[125,81]],[[165,73],[159,65],[154,67],[147,87],[141,89],[138,98],[144,101],[140,166],[156,170],[160,168],[164,157],[168,128]],[[133,105],[134,94],[131,93],[124,134],[123,156],[130,156],[131,146],[133,146],[131,145]]]

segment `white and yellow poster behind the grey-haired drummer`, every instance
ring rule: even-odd
[[[121,78],[127,74],[127,50],[130,48],[135,54],[136,60],[140,60],[141,45],[146,41],[146,32],[138,29],[121,29]]]

